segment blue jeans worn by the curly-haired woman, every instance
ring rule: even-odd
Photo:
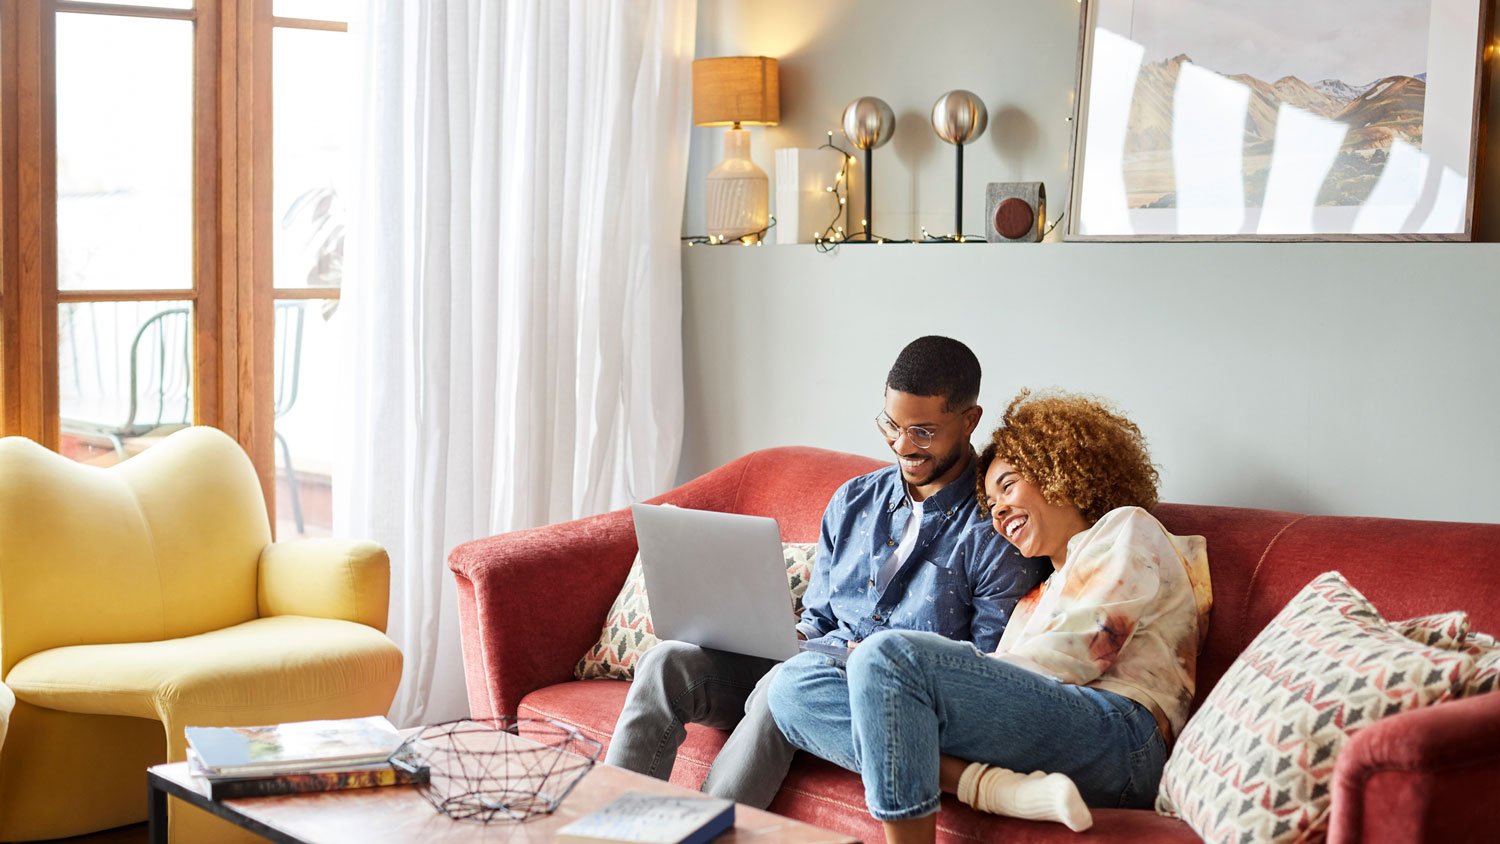
[[[1149,808],[1166,765],[1161,732],[1140,703],[936,633],[878,633],[848,666],[800,654],[783,664],[770,699],[794,745],[864,777],[878,820],[938,811],[939,753],[1066,774],[1090,807]]]

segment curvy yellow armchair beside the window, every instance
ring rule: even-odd
[[[388,589],[374,543],[272,543],[219,430],[110,469],[0,439],[0,841],[144,820],[146,768],[184,757],[186,726],[384,714]],[[178,808],[174,840],[206,838]]]

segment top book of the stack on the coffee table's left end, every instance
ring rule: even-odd
[[[384,763],[400,733],[382,717],[264,727],[188,727],[188,745],[218,775],[286,774]]]

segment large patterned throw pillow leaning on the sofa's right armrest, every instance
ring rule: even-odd
[[[1455,697],[1461,651],[1404,637],[1330,571],[1298,594],[1179,736],[1156,811],[1209,843],[1322,841],[1334,762],[1378,718]]]

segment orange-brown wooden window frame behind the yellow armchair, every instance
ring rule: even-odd
[[[192,289],[58,291],[60,12],[194,22]],[[190,10],[0,0],[0,433],[58,447],[60,304],[190,300],[195,421],[244,447],[274,513],[273,25],[272,0],[198,0]]]

